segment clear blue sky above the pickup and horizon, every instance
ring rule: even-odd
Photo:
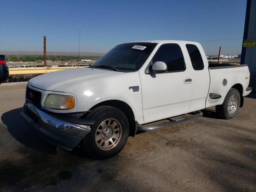
[[[246,0],[2,0],[0,50],[106,52],[136,40],[243,37]],[[201,42],[206,54],[240,53],[242,38]]]

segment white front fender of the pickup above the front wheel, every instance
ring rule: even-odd
[[[138,86],[139,89],[132,89]],[[127,103],[140,124],[144,123],[142,112],[140,76],[138,72],[128,72],[70,86],[64,92],[74,93],[77,97],[77,112],[90,110],[96,104],[108,100],[120,100]]]

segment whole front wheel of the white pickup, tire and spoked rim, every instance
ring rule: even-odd
[[[129,135],[129,122],[121,110],[101,106],[92,110],[86,118],[95,120],[95,123],[80,145],[92,158],[110,158],[124,148]]]

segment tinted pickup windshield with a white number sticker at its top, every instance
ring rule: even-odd
[[[144,64],[155,46],[156,43],[121,44],[107,52],[90,67],[106,70],[116,68],[123,72],[134,72]]]

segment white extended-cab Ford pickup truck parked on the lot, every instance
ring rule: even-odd
[[[88,68],[32,78],[22,115],[48,142],[66,150],[79,145],[104,159],[137,130],[200,117],[204,108],[216,106],[221,118],[233,118],[252,90],[249,79],[247,65],[208,64],[197,42],[120,44]],[[188,115],[170,119],[182,114]]]

